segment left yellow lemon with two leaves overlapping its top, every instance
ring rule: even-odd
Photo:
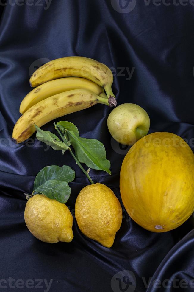
[[[26,204],[24,219],[29,231],[38,239],[56,243],[73,239],[73,217],[65,204],[37,194]]]

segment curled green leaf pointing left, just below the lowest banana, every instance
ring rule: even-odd
[[[43,131],[37,125],[35,125],[35,128],[37,130],[36,138],[44,142],[46,145],[51,146],[54,150],[67,150],[68,146],[71,145],[69,142],[68,146],[65,145],[65,143],[62,142],[55,134],[52,134],[49,131]]]

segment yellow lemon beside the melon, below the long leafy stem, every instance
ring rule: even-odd
[[[111,247],[121,227],[122,209],[117,197],[104,184],[91,184],[81,190],[75,216],[81,232],[105,247]]]

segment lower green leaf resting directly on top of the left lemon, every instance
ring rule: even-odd
[[[33,195],[38,193],[41,193],[50,199],[55,199],[60,203],[66,203],[71,194],[71,188],[66,181],[52,179],[37,187],[34,190]]]

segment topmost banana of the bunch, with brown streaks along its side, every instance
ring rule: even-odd
[[[108,97],[112,93],[113,75],[111,70],[96,60],[85,57],[64,57],[46,63],[38,68],[29,80],[32,87],[53,79],[77,76],[84,77],[104,87]]]

